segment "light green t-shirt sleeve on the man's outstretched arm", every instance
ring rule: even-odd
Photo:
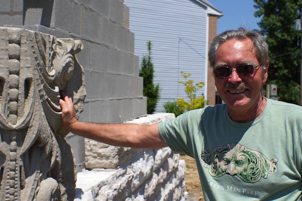
[[[193,128],[191,128],[190,122],[199,122],[201,113],[202,109],[189,111],[175,119],[159,124],[161,136],[175,153],[184,153],[194,157],[192,150]]]

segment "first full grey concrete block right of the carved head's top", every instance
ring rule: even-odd
[[[107,46],[91,43],[91,68],[107,71],[109,68],[109,48]]]

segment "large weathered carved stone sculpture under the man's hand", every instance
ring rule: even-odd
[[[76,175],[58,100],[60,90],[69,92],[79,117],[86,92],[74,55],[82,48],[0,27],[0,200],[73,200]]]

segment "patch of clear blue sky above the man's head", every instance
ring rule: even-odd
[[[209,0],[223,16],[217,22],[217,34],[230,29],[245,26],[249,30],[260,29],[257,25],[260,18],[254,17],[256,9],[253,0]]]

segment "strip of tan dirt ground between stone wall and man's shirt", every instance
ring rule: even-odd
[[[204,201],[195,159],[187,155],[181,155],[180,159],[186,161],[186,200]]]

